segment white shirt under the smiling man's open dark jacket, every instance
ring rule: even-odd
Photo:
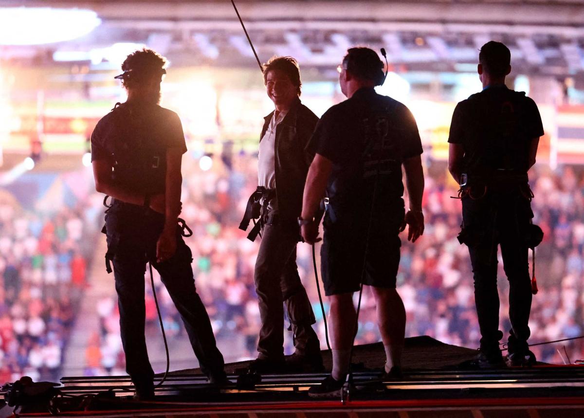
[[[278,116],[276,117],[276,113]],[[288,112],[274,112],[266,133],[259,143],[258,186],[276,189],[276,127],[284,120]],[[276,198],[272,198],[268,207],[277,210]]]

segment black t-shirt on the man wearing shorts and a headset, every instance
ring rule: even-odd
[[[307,149],[332,161],[327,196],[337,217],[353,217],[371,207],[373,193],[380,211],[396,204],[402,162],[422,154],[422,142],[405,105],[363,88],[322,115]]]

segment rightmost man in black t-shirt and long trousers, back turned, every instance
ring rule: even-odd
[[[533,363],[528,349],[531,284],[527,249],[533,234],[527,170],[536,161],[543,135],[536,104],[505,86],[509,49],[486,43],[479,54],[483,90],[458,103],[450,126],[449,169],[461,184],[463,229],[474,273],[481,348],[479,367],[503,364],[499,340],[497,246],[509,280],[510,330],[507,364]],[[533,238],[533,237],[532,237]]]

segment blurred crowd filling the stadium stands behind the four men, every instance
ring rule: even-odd
[[[202,171],[196,159],[190,161],[184,164],[181,217],[193,230],[186,242],[193,252],[197,291],[207,306],[220,347],[223,342],[223,347],[231,348],[224,350],[225,360],[252,358],[259,330],[253,287],[258,242],[246,239],[238,225],[247,198],[256,187],[256,156],[215,157],[208,171]],[[545,232],[544,242],[536,250],[540,291],[531,310],[530,342],[577,337],[584,333],[584,173],[569,166],[551,171],[538,165],[530,179],[535,194],[534,222]],[[456,192],[445,166],[434,163],[429,167],[423,202],[426,231],[415,245],[402,238],[398,290],[408,315],[407,336],[429,335],[445,343],[478,347],[468,251],[456,239],[460,201],[451,198]],[[26,213],[15,204],[0,204],[0,383],[22,375],[34,380],[61,377],[71,326],[83,290],[92,280],[86,274],[95,251],[92,242],[105,239],[98,234],[103,214],[98,201],[100,198],[90,198],[54,213]],[[325,348],[310,246],[298,246],[297,263],[318,319],[321,347]],[[172,341],[186,339],[186,333],[156,273],[155,283],[172,350]],[[158,339],[149,283],[146,289],[147,335]],[[500,259],[499,290],[500,329],[509,330],[508,289]],[[112,296],[96,301],[95,306],[100,328],[87,342],[85,374],[123,374],[113,287]],[[374,315],[373,297],[366,291],[357,344],[380,340]],[[291,353],[291,335],[286,335],[286,351]],[[573,362],[584,357],[582,342],[536,346],[533,351],[541,361]]]

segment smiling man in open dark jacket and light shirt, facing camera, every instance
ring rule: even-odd
[[[320,371],[320,343],[312,324],[314,312],[298,276],[297,218],[308,166],[305,151],[318,117],[300,102],[300,69],[291,57],[274,57],[264,65],[263,79],[274,111],[264,119],[258,155],[258,186],[262,191],[262,243],[254,281],[262,327],[258,358],[251,371]],[[262,188],[262,189],[260,189]],[[284,358],[284,309],[294,333],[295,352]]]

